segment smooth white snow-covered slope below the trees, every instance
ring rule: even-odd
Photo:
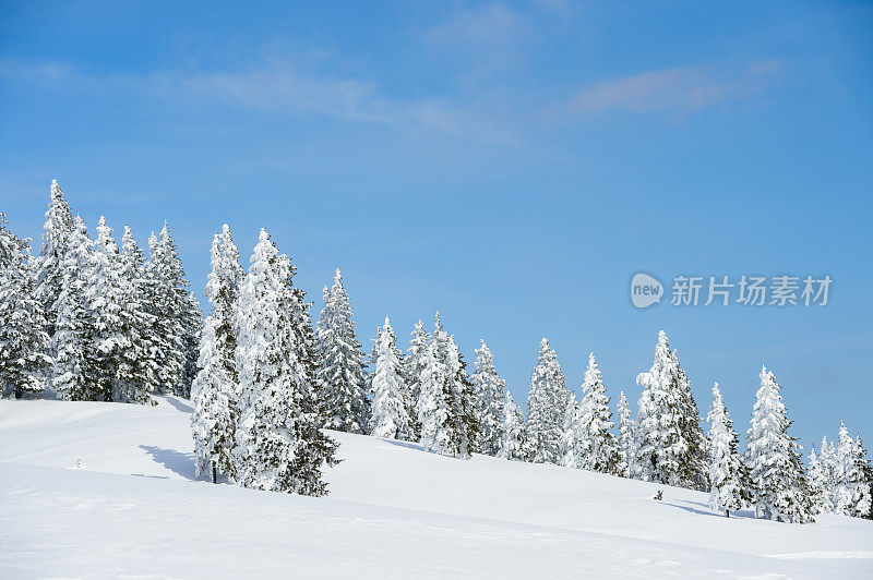
[[[344,433],[327,498],[213,485],[189,416],[0,401],[0,578],[873,577],[871,521],[726,519],[702,493]]]

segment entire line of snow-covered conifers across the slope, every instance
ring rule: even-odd
[[[726,516],[752,507],[757,517],[801,523],[829,511],[873,518],[860,436],[841,426],[837,447],[824,439],[804,466],[767,368],[745,452],[718,384],[704,433],[665,331],[636,378],[635,416],[621,391],[613,422],[594,353],[577,399],[546,338],[525,415],[485,341],[468,373],[439,314],[430,331],[415,325],[406,351],[386,317],[364,355],[339,270],[313,325],[295,266],[264,230],[248,273],[230,229],[215,235],[205,322],[166,223],[148,245],[146,261],[125,227],[119,250],[103,218],[91,240],[57,182],[37,257],[0,215],[5,395],[48,388],[71,400],[140,403],[190,395],[198,474],[261,490],[326,494],[323,469],[337,462],[337,444],[323,430],[333,428],[456,458],[479,452],[708,491],[710,507]]]

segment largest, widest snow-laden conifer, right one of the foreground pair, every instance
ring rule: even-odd
[[[246,487],[318,496],[327,493],[321,471],[336,463],[336,443],[320,430],[308,304],[294,274],[262,229],[236,307],[235,470]]]

